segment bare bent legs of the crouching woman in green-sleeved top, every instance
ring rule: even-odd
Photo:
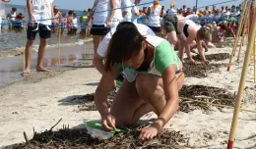
[[[184,75],[177,78],[178,88],[184,83]],[[150,87],[149,87],[150,86]],[[117,92],[111,115],[118,125],[131,125],[145,114],[154,111],[158,115],[165,106],[162,79],[157,75],[138,75],[135,82],[125,79]]]

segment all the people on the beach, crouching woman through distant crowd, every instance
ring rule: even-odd
[[[44,0],[43,3],[27,0],[29,25],[24,74],[30,74],[32,43],[37,32],[40,46],[36,71],[49,71],[42,67],[46,39],[50,38],[56,25],[64,27],[62,19],[65,19],[59,20],[65,14],[59,13],[52,3],[53,0]],[[103,129],[108,131],[116,126],[136,124],[145,114],[155,112],[158,118],[142,129],[139,136],[144,141],[155,137],[179,108],[178,92],[185,77],[182,71],[186,65],[184,53],[189,63],[208,64],[205,52],[209,47],[215,47],[212,42],[224,41],[225,31],[236,29],[236,22],[232,24],[235,27],[225,22],[232,17],[239,18],[240,8],[229,10],[222,7],[220,11],[213,6],[211,11],[207,7],[205,11],[198,12],[196,8],[191,11],[184,5],[176,11],[175,3],[171,3],[165,11],[160,1],[154,0],[152,5],[140,11],[140,3],[141,0],[134,3],[131,0],[95,0],[92,10],[84,11],[85,16],[80,20],[83,26],[92,21],[90,34],[94,41],[94,65],[102,75],[96,87],[95,103]],[[35,6],[44,7],[39,9]],[[222,21],[218,17],[220,13]],[[68,15],[65,22],[73,34],[76,30],[71,29],[70,23],[76,14],[70,11]],[[41,20],[49,18],[56,19],[56,22]],[[87,34],[87,30],[84,31]],[[178,54],[175,49],[178,49]],[[193,60],[191,52],[198,52],[201,62]],[[115,78],[121,72],[124,80],[109,111],[107,95],[115,89]]]

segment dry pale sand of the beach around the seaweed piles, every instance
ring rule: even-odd
[[[243,60],[244,50],[242,52]],[[211,49],[207,54],[230,53],[230,48]],[[235,59],[236,60],[236,59]],[[215,62],[212,62],[215,63]],[[228,63],[228,60],[218,63]],[[206,78],[186,78],[185,84],[202,84],[237,91],[242,69],[242,62],[234,63],[230,72],[226,67],[221,73],[210,74]],[[0,89],[0,148],[10,147],[14,143],[24,142],[23,132],[32,138],[32,127],[44,131],[56,124],[70,127],[83,124],[84,120],[99,120],[97,112],[77,113],[77,105],[65,101],[74,95],[93,93],[100,75],[93,68],[69,68],[65,71],[52,71],[28,76],[26,80]],[[246,80],[243,109],[256,110],[256,86],[253,83],[253,66],[249,67]],[[190,113],[178,112],[167,127],[181,131],[189,137],[189,145],[194,148],[226,148],[232,111],[213,108],[205,113],[196,110]],[[155,118],[152,116],[151,118]],[[151,119],[150,118],[150,119]],[[143,119],[149,119],[144,117]],[[256,115],[241,112],[236,132],[235,148],[256,148]]]

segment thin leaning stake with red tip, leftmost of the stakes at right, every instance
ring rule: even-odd
[[[231,56],[230,56],[230,60],[229,60],[228,66],[227,66],[227,71],[230,70],[232,59],[233,59],[233,57],[235,55],[237,43],[238,43],[238,40],[239,40],[239,37],[240,37],[240,34],[241,34],[241,30],[242,30],[241,28],[244,25],[244,16],[245,16],[245,13],[246,13],[246,8],[248,8],[248,1],[245,2],[245,4],[243,5],[243,8],[242,8],[241,20],[240,20],[240,24],[239,24],[239,27],[238,27],[238,31],[236,33],[237,37],[235,38],[235,41],[234,41],[234,46],[233,46],[233,50],[232,50],[232,53],[231,53]]]

